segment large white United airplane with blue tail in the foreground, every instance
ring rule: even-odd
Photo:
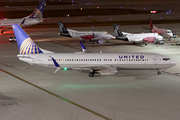
[[[161,70],[176,65],[170,58],[151,53],[88,53],[81,43],[82,52],[78,53],[54,53],[39,48],[32,39],[23,31],[18,24],[12,25],[19,54],[19,60],[31,65],[56,68],[56,73],[60,69],[69,70],[89,70],[89,77],[94,74],[116,75],[117,70]]]

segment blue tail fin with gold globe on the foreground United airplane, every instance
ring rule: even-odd
[[[32,41],[26,32],[18,25],[12,24],[20,54],[42,54],[40,48]]]

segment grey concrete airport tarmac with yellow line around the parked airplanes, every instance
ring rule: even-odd
[[[178,30],[178,26],[167,28]],[[113,31],[111,26],[72,29]],[[121,29],[142,31],[141,25]],[[43,49],[81,51],[79,40],[58,35],[58,26],[25,31]],[[159,53],[177,62],[161,75],[150,70],[119,70],[116,76],[90,78],[89,71],[61,70],[53,74],[55,69],[19,61],[15,57],[19,53],[16,43],[8,41],[12,35],[13,31],[6,31],[0,39],[1,120],[179,120],[180,46],[86,42],[92,52]]]

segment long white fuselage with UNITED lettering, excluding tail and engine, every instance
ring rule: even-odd
[[[159,54],[145,53],[49,53],[19,54],[18,58],[29,64],[55,68],[53,57],[61,68],[68,69],[100,69],[101,67],[116,69],[160,70],[174,66],[176,63]]]

